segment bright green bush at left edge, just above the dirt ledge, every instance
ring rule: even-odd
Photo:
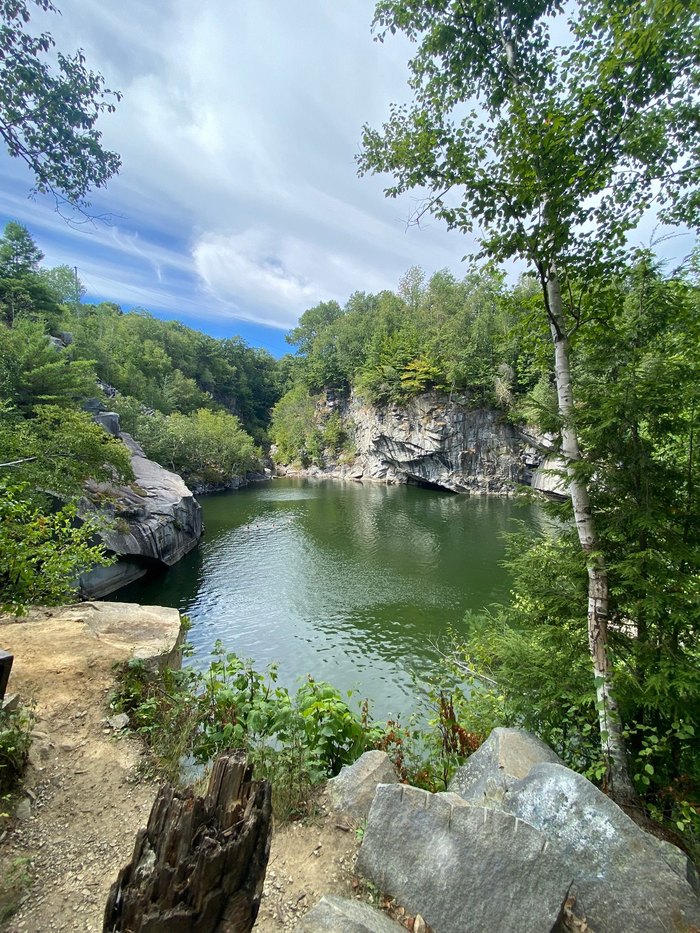
[[[111,558],[94,543],[95,525],[78,524],[77,509],[47,511],[25,487],[0,481],[0,601],[22,612],[28,604],[58,605],[77,593],[78,575]]]

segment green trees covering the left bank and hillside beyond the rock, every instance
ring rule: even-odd
[[[133,480],[126,447],[85,410],[122,416],[147,456],[190,483],[258,469],[276,361],[240,338],[215,340],[110,302],[83,304],[75,271],[45,268],[29,231],[0,238],[0,603],[68,599],[108,558],[79,502],[88,478]],[[110,395],[103,391],[107,388]],[[115,394],[116,391],[116,394]]]

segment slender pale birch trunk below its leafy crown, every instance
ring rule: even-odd
[[[612,666],[608,654],[608,575],[598,547],[588,487],[578,469],[581,451],[575,426],[569,342],[561,286],[554,264],[547,273],[546,299],[554,342],[557,398],[562,422],[561,453],[566,462],[576,531],[588,570],[588,645],[593,661],[598,721],[607,766],[608,793],[618,804],[631,805],[636,799],[636,794],[627,769],[625,742],[612,689]]]

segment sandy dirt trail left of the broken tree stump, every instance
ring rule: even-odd
[[[37,715],[31,816],[15,820],[0,847],[0,872],[30,859],[32,883],[5,929],[101,930],[107,891],[155,793],[137,778],[138,742],[105,729],[112,666],[128,652],[57,620],[2,625],[0,641],[15,654],[10,690],[33,699]]]

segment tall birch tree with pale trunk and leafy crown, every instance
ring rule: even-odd
[[[569,365],[584,323],[572,283],[609,274],[652,205],[697,220],[700,0],[380,0],[374,28],[379,41],[402,32],[415,44],[413,102],[392,106],[381,130],[365,126],[360,172],[393,175],[392,197],[418,189],[416,222],[432,213],[475,231],[482,256],[525,260],[540,283],[608,787],[628,803],[606,564]]]

